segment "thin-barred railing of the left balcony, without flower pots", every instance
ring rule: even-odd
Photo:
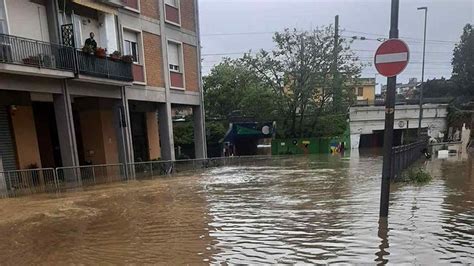
[[[74,71],[74,49],[0,34],[0,63]]]

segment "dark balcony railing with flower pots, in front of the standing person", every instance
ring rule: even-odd
[[[97,57],[76,50],[79,74],[120,81],[133,81],[132,64],[109,57]]]

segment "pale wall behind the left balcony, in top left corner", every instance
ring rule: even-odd
[[[41,3],[41,1],[37,1]],[[49,42],[46,7],[30,0],[6,0],[10,35]]]

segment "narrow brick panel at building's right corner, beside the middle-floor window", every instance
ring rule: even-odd
[[[183,0],[181,0],[183,2]],[[199,91],[198,58],[196,46],[183,44],[186,90]]]

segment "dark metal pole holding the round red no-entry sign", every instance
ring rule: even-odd
[[[390,18],[390,39],[398,38],[399,0],[392,0]],[[387,78],[387,95],[385,98],[385,131],[383,145],[383,170],[380,194],[380,217],[388,217],[390,197],[390,173],[392,172],[393,122],[395,118],[395,90],[397,77]]]

